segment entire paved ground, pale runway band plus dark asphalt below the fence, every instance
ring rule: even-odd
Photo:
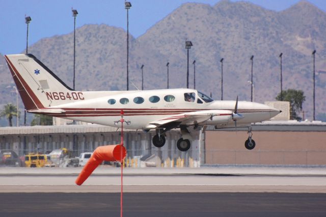
[[[0,216],[120,216],[120,168],[0,168]],[[126,169],[124,216],[326,216],[325,168]]]

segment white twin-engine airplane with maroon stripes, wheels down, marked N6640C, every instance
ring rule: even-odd
[[[247,101],[213,100],[193,89],[145,91],[75,91],[31,54],[5,56],[21,99],[28,112],[107,126],[121,126],[121,111],[128,121],[125,128],[156,130],[154,146],[165,144],[165,132],[180,128],[180,151],[191,146],[188,129],[208,125],[215,128],[249,127],[247,149],[255,147],[251,123],[268,120],[281,111]],[[117,125],[118,124],[118,125]]]

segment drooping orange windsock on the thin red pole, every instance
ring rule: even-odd
[[[82,185],[103,160],[122,161],[125,156],[126,149],[122,145],[106,145],[97,147],[90,159],[87,161],[82,172],[80,172],[75,183],[77,185]]]

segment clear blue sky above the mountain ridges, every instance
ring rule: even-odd
[[[156,22],[187,2],[215,5],[219,0],[129,0],[129,32],[143,35]],[[232,2],[236,2],[232,0]],[[263,8],[281,11],[299,0],[249,0]],[[326,0],[309,0],[326,11]],[[20,53],[26,46],[25,15],[31,16],[29,45],[44,37],[73,31],[71,8],[78,11],[76,28],[85,24],[101,24],[127,29],[124,0],[0,0],[0,53]]]

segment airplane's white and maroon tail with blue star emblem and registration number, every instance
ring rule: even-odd
[[[39,110],[84,99],[31,54],[5,55],[26,110]]]

